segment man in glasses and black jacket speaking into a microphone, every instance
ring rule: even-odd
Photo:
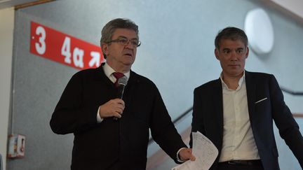
[[[194,160],[156,85],[130,70],[140,46],[138,33],[130,20],[108,22],[101,38],[107,62],[79,71],[65,87],[50,127],[56,134],[74,134],[72,169],[146,169],[149,129],[173,160]],[[128,80],[123,99],[114,85],[116,74]]]

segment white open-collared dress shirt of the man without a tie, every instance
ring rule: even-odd
[[[219,162],[229,160],[260,160],[248,114],[245,73],[236,90],[224,83],[223,92],[223,143]]]

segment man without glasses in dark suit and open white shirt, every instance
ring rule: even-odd
[[[219,150],[210,169],[278,170],[273,120],[303,167],[303,138],[276,78],[245,71],[245,32],[227,27],[215,38],[220,78],[194,90],[192,132],[206,135]]]

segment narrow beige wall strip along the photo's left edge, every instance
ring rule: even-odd
[[[14,9],[0,10],[0,153],[6,169],[8,113],[11,98],[11,70],[13,56]]]

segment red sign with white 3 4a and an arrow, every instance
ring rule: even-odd
[[[30,52],[76,69],[100,66],[104,57],[100,46],[31,22]]]

